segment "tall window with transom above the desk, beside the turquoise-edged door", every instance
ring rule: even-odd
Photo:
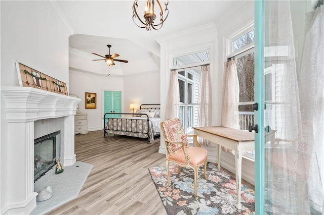
[[[232,56],[237,60],[237,77],[239,82],[239,125],[241,130],[248,130],[254,125],[254,29],[236,34],[230,40]],[[245,156],[254,159],[254,151],[247,151]]]

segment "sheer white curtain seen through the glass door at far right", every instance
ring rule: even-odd
[[[266,213],[312,214],[312,209],[319,208],[314,208],[315,202],[321,213],[322,185],[314,179],[320,177],[316,153],[322,155],[324,144],[320,136],[324,132],[324,28],[322,21],[321,27],[319,24],[323,15],[314,17],[307,30],[298,82],[290,2],[267,1],[267,7],[265,59],[276,85],[275,104],[267,104],[266,110],[275,112],[277,141],[265,148]],[[316,143],[315,135],[319,138]]]

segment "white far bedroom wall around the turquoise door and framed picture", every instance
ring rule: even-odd
[[[129,77],[119,78],[108,75],[96,75],[70,69],[69,93],[78,96],[79,111],[88,114],[88,131],[103,129],[103,92],[121,91],[121,110],[132,113],[129,104],[135,102],[160,103],[159,72],[140,73]],[[97,109],[85,109],[85,92],[97,93]],[[136,111],[136,110],[134,110]]]

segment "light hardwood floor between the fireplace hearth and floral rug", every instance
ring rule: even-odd
[[[78,197],[47,214],[167,214],[148,172],[165,165],[159,141],[104,138],[103,131],[75,135],[76,160],[93,168]]]

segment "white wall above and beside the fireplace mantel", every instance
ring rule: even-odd
[[[1,86],[19,86],[15,61],[61,80],[69,86],[68,37],[70,32],[49,1],[1,1]],[[3,97],[1,97],[3,100]],[[8,202],[6,146],[8,125],[1,103],[0,213]]]

